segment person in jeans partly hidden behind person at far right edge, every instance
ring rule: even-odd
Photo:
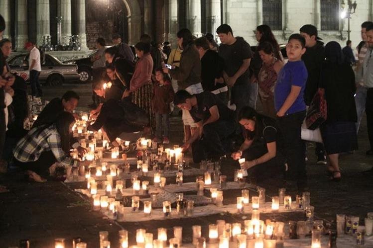
[[[358,50],[358,63],[356,67],[356,74],[362,74],[363,72],[363,63],[364,58],[368,51],[368,43],[367,43],[367,27],[372,25],[372,21],[365,21],[362,23],[361,27],[361,35],[362,41],[359,43],[357,50]],[[358,122],[356,123],[356,132],[359,133],[360,123],[362,122],[363,114],[365,112],[365,103],[367,100],[367,88],[364,86],[363,77],[357,77],[357,89],[355,95],[355,104],[356,104],[356,111],[358,113]],[[373,153],[372,153],[373,154]],[[370,154],[367,154],[370,155]]]

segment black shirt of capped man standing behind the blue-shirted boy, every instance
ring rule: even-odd
[[[316,45],[313,47],[307,47],[306,52],[302,56],[302,60],[308,72],[306,89],[304,91],[304,101],[308,106],[319,87],[320,68],[324,59],[325,47],[324,43],[321,41],[317,41]]]

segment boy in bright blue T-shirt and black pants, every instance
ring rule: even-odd
[[[284,138],[287,158],[286,188],[290,192],[307,187],[304,142],[301,140],[301,126],[306,116],[304,89],[307,69],[301,60],[306,52],[305,39],[292,34],[286,45],[288,63],[281,69],[274,88],[274,105],[277,124]]]

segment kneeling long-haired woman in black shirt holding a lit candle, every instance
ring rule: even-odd
[[[239,114],[239,123],[243,126],[245,141],[240,150],[232,154],[232,158],[245,158],[246,162],[241,167],[248,169],[254,181],[281,175],[284,159],[279,152],[282,141],[275,120],[247,106]]]

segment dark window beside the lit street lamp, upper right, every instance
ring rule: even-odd
[[[339,30],[339,0],[321,0],[321,30]]]

